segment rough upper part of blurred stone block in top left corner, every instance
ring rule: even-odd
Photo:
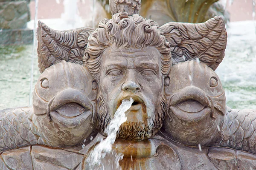
[[[25,28],[29,21],[26,0],[0,2],[0,29]]]

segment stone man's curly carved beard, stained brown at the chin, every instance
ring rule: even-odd
[[[99,91],[97,97],[98,114],[96,115],[96,122],[98,123],[99,131],[107,136],[104,131],[111,121],[111,115],[108,113],[108,106],[105,104],[105,99]],[[144,140],[154,136],[163,125],[163,120],[166,115],[166,98],[164,93],[159,97],[156,112],[154,116],[148,116],[146,121],[141,122],[124,122],[116,138],[125,140]]]

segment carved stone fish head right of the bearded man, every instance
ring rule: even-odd
[[[165,88],[169,116],[163,130],[187,145],[217,142],[225,114],[225,93],[217,74],[192,60],[172,66],[169,77]]]

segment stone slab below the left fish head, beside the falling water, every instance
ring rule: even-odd
[[[81,170],[84,155],[62,149],[32,146],[32,160],[35,170]]]

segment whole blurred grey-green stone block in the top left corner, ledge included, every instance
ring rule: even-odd
[[[0,44],[32,43],[33,31],[26,28],[29,1],[0,0]]]

